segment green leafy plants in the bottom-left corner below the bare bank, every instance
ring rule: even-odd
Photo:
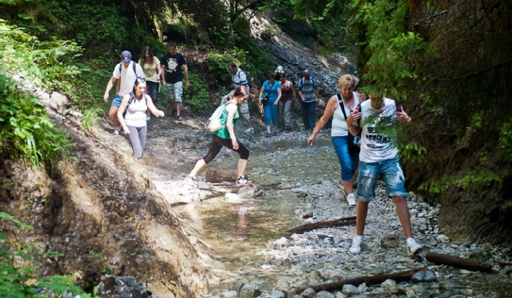
[[[21,230],[33,229],[5,212],[0,212],[0,219],[16,223]],[[80,294],[80,297],[90,298],[89,294],[73,284],[70,277],[38,277],[33,274],[41,260],[51,260],[58,255],[52,251],[45,252],[42,245],[19,245],[6,240],[4,233],[0,232],[0,297],[43,298],[71,293],[73,297]],[[37,289],[44,294],[36,294]],[[44,290],[41,292],[41,289]]]

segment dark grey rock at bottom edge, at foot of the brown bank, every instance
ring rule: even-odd
[[[103,298],[146,298],[151,293],[140,287],[133,277],[104,275],[97,295]]]

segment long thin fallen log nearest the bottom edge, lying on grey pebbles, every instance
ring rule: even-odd
[[[353,278],[351,280],[342,280],[341,282],[330,282],[328,284],[323,285],[310,285],[306,287],[298,287],[295,289],[296,294],[300,294],[304,292],[305,289],[314,289],[315,292],[319,291],[332,291],[334,289],[341,289],[343,288],[343,285],[353,285],[358,286],[361,285],[363,282],[366,283],[366,285],[376,285],[381,284],[385,280],[395,280],[395,282],[403,282],[405,280],[410,280],[412,275],[415,275],[416,272],[420,272],[423,270],[427,270],[427,268],[418,268],[414,270],[408,270],[393,274],[381,274],[381,275],[373,275],[373,276],[363,276],[363,277],[357,277]]]

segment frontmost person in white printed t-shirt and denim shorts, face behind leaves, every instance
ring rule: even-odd
[[[375,84],[376,82],[370,82]],[[396,126],[398,121],[402,128],[407,128],[411,122],[401,106],[393,99],[384,95],[370,93],[370,100],[363,101],[350,116],[346,123],[353,136],[361,134],[361,153],[359,154],[358,202],[356,208],[356,237],[353,238],[351,253],[361,253],[363,232],[368,214],[368,203],[375,199],[375,184],[378,177],[385,182],[388,196],[395,203],[398,219],[407,238],[407,255],[415,255],[422,247],[412,238],[410,214],[407,207],[402,167],[398,158],[398,148],[395,144]],[[360,123],[363,123],[360,127]],[[392,133],[383,134],[383,128],[392,128]],[[389,131],[386,129],[385,131]]]

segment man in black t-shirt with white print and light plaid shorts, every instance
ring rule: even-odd
[[[188,67],[186,65],[185,57],[176,51],[176,42],[171,40],[167,43],[166,53],[162,58],[162,71],[161,79],[164,87],[167,87],[167,99],[171,101],[171,109],[176,111],[176,120],[181,121],[181,102],[183,97],[183,72],[185,72],[185,87],[188,89],[190,84],[188,83]],[[165,68],[167,67],[167,72]]]

